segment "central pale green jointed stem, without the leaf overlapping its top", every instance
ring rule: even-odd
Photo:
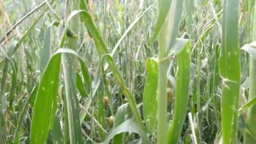
[[[163,0],[158,0],[158,8],[160,10]],[[168,24],[170,22],[170,14],[168,14],[165,23],[163,24],[159,36],[159,51],[158,59],[161,61],[168,56]],[[157,101],[158,101],[158,120],[157,120],[157,144],[167,144],[167,70],[168,61],[162,61],[158,64],[158,85],[157,85]]]

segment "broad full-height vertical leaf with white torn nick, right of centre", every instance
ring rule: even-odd
[[[238,6],[239,0],[224,0],[222,49],[219,61],[222,77],[221,124],[224,144],[237,143],[237,112],[240,95]]]

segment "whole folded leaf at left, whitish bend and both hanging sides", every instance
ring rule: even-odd
[[[32,117],[32,126],[30,132],[31,143],[44,144],[44,142],[47,140],[48,131],[52,128],[54,113],[57,108],[56,98],[59,87],[61,53],[69,53],[75,55],[79,58],[80,61],[82,61],[81,57],[78,56],[75,51],[67,48],[59,48],[51,57],[41,77],[37,97],[34,104],[34,113]],[[70,62],[69,58],[64,55],[64,60],[62,60],[62,63],[64,67],[64,82],[66,87],[66,100],[68,109],[67,114],[70,131],[69,136],[71,143],[81,144],[83,141],[78,116],[78,100],[75,94],[74,79],[67,76],[72,75],[72,69],[69,67],[70,64],[68,64],[68,62]]]

